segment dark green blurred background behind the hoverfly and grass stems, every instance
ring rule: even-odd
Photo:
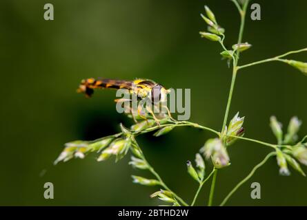
[[[306,47],[307,1],[255,1],[261,21],[248,17],[244,41],[253,47],[241,63]],[[55,21],[43,19],[43,5],[53,3]],[[226,45],[237,39],[239,16],[226,0],[92,0],[0,1],[1,56],[1,205],[132,205],[149,206],[155,188],[132,184],[131,174],[151,177],[97,155],[52,162],[72,140],[93,140],[130,123],[115,110],[114,91],[86,99],[75,91],[82,78],[151,78],[166,87],[191,89],[193,122],[220,129],[230,69],[221,61],[217,43],[201,39],[206,30],[199,14],[208,4],[226,28]],[[306,54],[293,58],[307,61]],[[270,63],[239,73],[230,117],[246,116],[246,137],[275,142],[270,115],[285,125],[293,115],[307,133],[307,78],[296,69]],[[181,197],[191,201],[197,184],[186,173],[186,160],[211,133],[178,128],[169,135],[138,140],[149,162]],[[221,170],[215,204],[245,177],[270,149],[238,142],[229,150],[232,166]],[[306,170],[306,168],[305,168]],[[208,168],[209,172],[209,168]],[[43,184],[55,185],[55,199],[43,198]],[[261,184],[261,199],[250,199],[250,184]],[[230,199],[232,206],[307,205],[307,179],[294,171],[281,177],[271,159]],[[197,205],[208,201],[208,186]]]

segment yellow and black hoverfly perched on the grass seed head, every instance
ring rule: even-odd
[[[137,115],[146,120],[146,113],[152,115],[152,118],[159,125],[158,118],[165,118],[166,114],[164,112],[152,111],[152,107],[154,110],[157,109],[165,109],[168,113],[168,117],[172,119],[170,111],[166,105],[167,95],[170,93],[170,89],[165,89],[164,86],[155,83],[152,80],[148,79],[136,79],[136,80],[115,80],[109,78],[87,78],[85,80],[81,80],[81,84],[79,85],[79,89],[77,91],[79,93],[86,94],[86,97],[90,98],[94,93],[94,89],[126,89],[129,94],[134,94],[137,96],[137,100],[140,104],[137,104]],[[144,100],[149,100],[151,105],[143,107]],[[116,99],[115,102],[125,103],[132,102],[132,99],[129,98],[120,98]],[[143,110],[146,110],[145,112]],[[129,109],[130,113],[132,113],[132,118],[137,122],[135,118],[135,113],[132,111],[132,108]],[[159,115],[156,113],[159,112]],[[173,119],[172,119],[173,120]]]

